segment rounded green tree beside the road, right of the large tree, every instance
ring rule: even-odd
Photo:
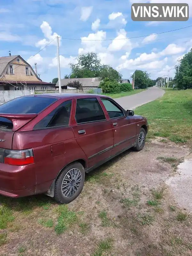
[[[133,78],[134,74],[131,76]],[[144,89],[150,84],[149,74],[146,71],[135,70],[135,88]]]

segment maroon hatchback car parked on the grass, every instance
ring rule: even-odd
[[[39,94],[0,106],[0,194],[45,193],[59,203],[82,191],[85,172],[145,145],[148,122],[113,99]]]

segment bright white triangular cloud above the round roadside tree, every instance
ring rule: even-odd
[[[109,51],[119,51],[121,49],[125,49],[127,51],[131,51],[132,44],[130,39],[126,39],[126,31],[124,29],[120,29],[118,32],[118,36],[112,41],[108,46]]]

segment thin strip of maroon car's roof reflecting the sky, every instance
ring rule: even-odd
[[[92,97],[102,97],[102,98],[109,98],[108,96],[105,95],[100,95],[100,94],[89,94],[89,93],[40,93],[40,94],[33,94],[33,95],[26,95],[24,97],[56,97],[58,99],[63,99],[63,98],[92,98]]]

